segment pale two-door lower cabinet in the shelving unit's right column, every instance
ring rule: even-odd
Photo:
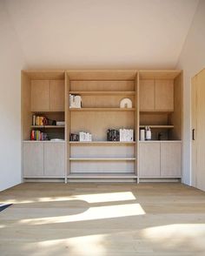
[[[140,178],[180,178],[181,141],[140,142]]]

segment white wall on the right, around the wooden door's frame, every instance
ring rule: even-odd
[[[195,12],[177,68],[184,71],[184,145],[183,182],[191,183],[191,77],[205,68],[205,1],[201,0]]]

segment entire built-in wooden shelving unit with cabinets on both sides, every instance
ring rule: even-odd
[[[70,94],[81,108],[69,107]],[[132,107],[121,108],[122,98]],[[35,125],[33,115],[64,125]],[[140,140],[145,126],[151,141]],[[107,141],[108,129],[121,128],[133,129],[134,141]],[[30,141],[32,130],[49,140]],[[92,141],[70,141],[80,131]],[[180,179],[182,71],[22,71],[22,138],[25,180]]]

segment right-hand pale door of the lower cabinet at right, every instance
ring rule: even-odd
[[[181,177],[181,142],[163,142],[161,144],[161,176]]]

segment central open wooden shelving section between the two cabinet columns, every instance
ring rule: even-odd
[[[90,142],[67,144],[67,179],[137,179],[136,139],[107,141],[108,129],[129,128],[138,132],[137,72],[67,71],[67,93],[82,97],[82,108],[69,108],[68,102],[67,137],[87,131],[93,138]],[[120,108],[122,98],[130,98],[132,108]]]

